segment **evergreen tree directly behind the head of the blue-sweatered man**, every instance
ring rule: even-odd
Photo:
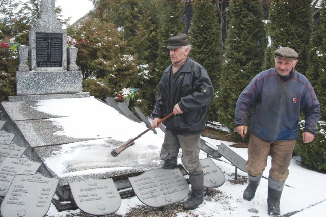
[[[308,68],[308,51],[312,35],[311,0],[271,0],[268,34],[271,50],[291,47],[299,53],[296,69],[305,75]],[[270,57],[274,65],[274,57]]]

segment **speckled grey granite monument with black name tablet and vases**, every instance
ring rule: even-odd
[[[55,0],[41,0],[40,18],[29,31],[29,46],[18,47],[17,96],[9,96],[9,101],[89,96],[82,92],[83,76],[75,63],[78,48],[67,48],[66,40]]]

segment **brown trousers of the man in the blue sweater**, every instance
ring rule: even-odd
[[[278,182],[283,182],[289,175],[289,166],[296,140],[281,140],[268,142],[250,134],[248,144],[247,171],[252,176],[259,176],[267,166],[270,152],[271,168],[269,176]]]

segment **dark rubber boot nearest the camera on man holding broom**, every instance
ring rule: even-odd
[[[196,209],[204,200],[204,173],[189,175],[192,192],[190,198],[184,202],[184,210]]]

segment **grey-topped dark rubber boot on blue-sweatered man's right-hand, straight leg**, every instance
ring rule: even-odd
[[[280,210],[280,199],[283,191],[285,182],[278,182],[272,178],[268,178],[268,215],[279,216]]]

